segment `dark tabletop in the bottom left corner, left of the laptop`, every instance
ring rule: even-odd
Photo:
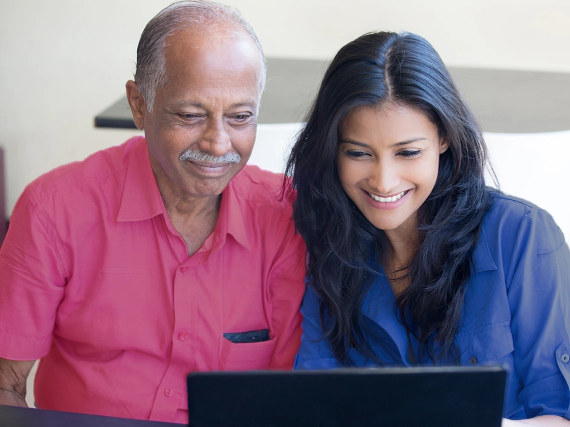
[[[2,427],[180,427],[171,422],[128,420],[127,418],[57,412],[0,405]]]

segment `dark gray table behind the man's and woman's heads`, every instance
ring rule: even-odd
[[[267,58],[259,123],[303,121],[328,61]],[[570,73],[450,68],[485,132],[570,130]],[[135,128],[127,98],[95,117],[95,126]]]

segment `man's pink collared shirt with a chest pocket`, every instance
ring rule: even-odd
[[[42,358],[37,406],[188,422],[189,372],[290,369],[305,248],[280,179],[246,166],[191,257],[143,137],[32,182],[0,249],[0,357]]]

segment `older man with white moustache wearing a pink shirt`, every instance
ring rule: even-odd
[[[0,252],[0,404],[187,422],[192,371],[290,369],[304,245],[280,176],[245,166],[264,59],[239,13],[147,24],[127,95],[145,137],[32,182]]]

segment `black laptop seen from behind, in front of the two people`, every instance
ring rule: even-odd
[[[502,367],[196,372],[191,427],[500,427]]]

